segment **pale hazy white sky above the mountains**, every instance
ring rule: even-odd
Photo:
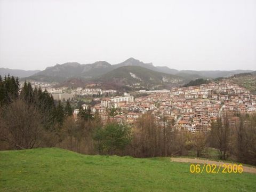
[[[256,1],[0,0],[0,67],[130,57],[175,69],[256,70]]]

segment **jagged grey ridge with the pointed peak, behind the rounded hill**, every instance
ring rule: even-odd
[[[105,75],[110,71],[113,71],[119,67],[124,66],[138,66],[146,69],[150,69],[153,71],[157,71],[165,74],[177,74],[179,71],[176,69],[170,69],[169,67],[155,67],[152,63],[143,63],[134,58],[129,58],[124,62],[118,63],[116,65],[110,65],[110,63],[106,61],[97,61],[92,64],[80,64],[77,62],[68,62],[63,63],[62,65],[55,65],[53,67],[47,67],[43,71],[39,71],[38,73],[31,75],[27,79],[31,79],[34,81],[46,81],[46,82],[64,82],[69,78],[84,78],[87,81],[91,81],[94,78],[98,78],[101,75]],[[186,79],[196,79],[200,78],[199,75],[194,74],[183,74],[180,76]]]

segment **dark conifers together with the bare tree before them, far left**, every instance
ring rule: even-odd
[[[65,108],[50,93],[33,89],[18,78],[0,76],[1,149],[28,149],[54,146],[66,116],[73,115],[67,101]]]

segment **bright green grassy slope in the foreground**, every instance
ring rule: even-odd
[[[255,191],[250,173],[191,174],[169,158],[89,156],[57,148],[0,152],[0,191]]]

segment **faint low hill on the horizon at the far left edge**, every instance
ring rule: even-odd
[[[0,68],[0,75],[4,77],[10,74],[10,76],[14,77],[29,77],[38,73],[40,70],[21,70],[21,69],[8,69],[8,68]]]

